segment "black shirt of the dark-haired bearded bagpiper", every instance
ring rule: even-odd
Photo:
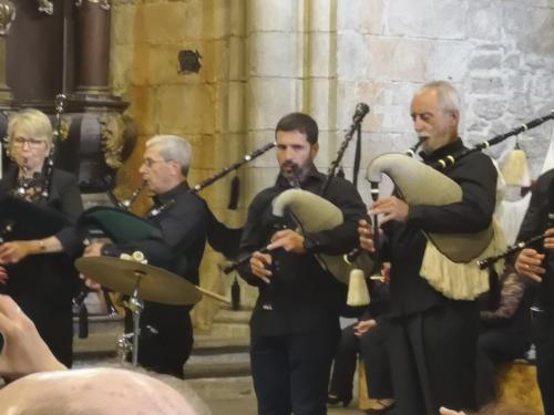
[[[314,168],[300,187],[319,194],[325,180],[326,176]],[[271,236],[283,227],[295,228],[289,217],[277,218],[271,212],[274,198],[289,188],[290,184],[279,175],[275,186],[255,197],[240,242],[243,256],[267,246]],[[334,229],[306,232],[305,243],[310,247],[309,252],[273,251],[270,284],[252,274],[248,262],[239,268],[240,276],[259,288],[250,322],[253,334],[279,335],[338,326],[337,317],[346,299],[346,286],[325,271],[311,253],[342,255],[357,246],[358,220],[365,217],[366,206],[353,185],[337,177],[330,180],[324,198],[340,208],[345,220]],[[314,210],[314,215],[318,211]],[[264,305],[267,304],[273,310],[266,310]]]

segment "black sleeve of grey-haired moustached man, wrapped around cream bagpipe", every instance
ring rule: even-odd
[[[424,231],[441,234],[471,234],[485,229],[494,212],[497,173],[489,157],[475,156],[452,177],[462,188],[460,203],[410,206],[408,222]],[[427,185],[421,191],[432,191],[432,184]]]

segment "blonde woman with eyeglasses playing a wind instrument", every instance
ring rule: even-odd
[[[73,224],[83,206],[76,177],[47,168],[52,137],[50,120],[38,110],[9,120],[7,149],[14,163],[0,180],[0,227],[6,228],[0,291],[18,302],[53,354],[71,366],[72,299],[80,287],[73,260],[82,251]]]

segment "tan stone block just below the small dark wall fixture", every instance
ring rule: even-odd
[[[187,134],[213,134],[213,86],[163,85],[156,93],[160,129]]]

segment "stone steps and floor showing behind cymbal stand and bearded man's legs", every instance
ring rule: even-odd
[[[257,413],[247,353],[248,319],[248,312],[223,310],[212,333],[195,334],[195,346],[185,365],[187,380],[184,382],[206,403],[213,415]],[[88,339],[75,339],[74,366],[119,366],[114,345],[123,330],[122,319],[91,317],[89,330]],[[363,412],[357,409],[355,401],[347,408],[329,408],[329,415],[359,414]]]

